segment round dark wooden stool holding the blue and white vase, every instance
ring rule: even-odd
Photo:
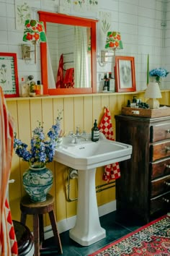
[[[25,225],[27,214],[33,216],[33,236],[35,244],[35,256],[40,256],[40,248],[44,241],[43,214],[48,213],[53,229],[55,242],[58,246],[58,254],[63,254],[60,235],[58,234],[57,223],[54,213],[54,198],[48,194],[45,202],[32,202],[29,195],[22,197],[20,202],[21,223]]]

